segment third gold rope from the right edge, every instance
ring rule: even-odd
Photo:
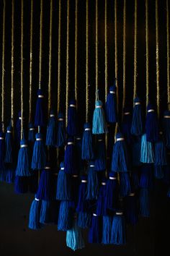
[[[148,0],[146,0],[146,107],[149,95],[149,58],[148,58]]]

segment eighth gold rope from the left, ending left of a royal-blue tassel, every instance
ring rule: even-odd
[[[69,90],[69,20],[70,0],[67,0],[67,39],[66,39],[66,127],[68,122],[68,90]]]

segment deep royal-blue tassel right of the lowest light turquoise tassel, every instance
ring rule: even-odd
[[[91,227],[89,229],[89,243],[100,244],[102,242],[102,223],[100,217],[93,213]]]

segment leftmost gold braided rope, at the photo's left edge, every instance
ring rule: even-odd
[[[2,32],[2,60],[1,60],[1,126],[4,132],[4,75],[5,75],[5,14],[6,14],[6,1],[4,1],[3,8],[3,32]]]

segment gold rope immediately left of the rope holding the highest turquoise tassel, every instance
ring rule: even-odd
[[[86,122],[89,121],[89,0],[86,0]]]

